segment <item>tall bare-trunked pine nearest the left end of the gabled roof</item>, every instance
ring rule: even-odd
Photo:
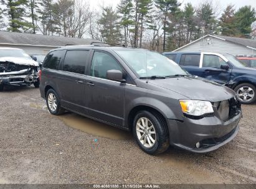
[[[163,39],[163,51],[166,46],[166,32],[167,32],[167,24],[168,24],[168,14],[175,12],[178,7],[181,5],[177,0],[155,0],[156,7],[160,10],[161,14],[163,14],[163,30],[164,30],[164,39]]]

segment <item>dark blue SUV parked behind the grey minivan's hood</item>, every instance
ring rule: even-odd
[[[240,103],[256,101],[256,70],[227,53],[165,52],[192,75],[229,86],[237,93]]]

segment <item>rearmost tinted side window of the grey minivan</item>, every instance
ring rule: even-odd
[[[59,70],[59,65],[64,57],[65,50],[55,50],[50,52],[44,60],[44,68],[50,68],[54,70]]]

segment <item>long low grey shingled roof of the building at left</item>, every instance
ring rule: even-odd
[[[0,31],[0,44],[60,47],[65,45],[90,45],[92,42],[100,42],[100,40]]]

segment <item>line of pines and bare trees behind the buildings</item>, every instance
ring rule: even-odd
[[[253,38],[254,7],[202,1],[198,6],[178,0],[120,0],[90,9],[81,0],[0,0],[0,29],[31,34],[84,36],[113,44],[163,52],[206,34]],[[2,8],[1,8],[2,7]],[[7,21],[7,22],[4,22]]]

